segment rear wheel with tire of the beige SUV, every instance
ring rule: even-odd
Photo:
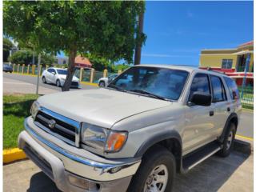
[[[236,126],[233,122],[230,122],[229,129],[226,131],[224,141],[222,142],[222,150],[218,151],[218,156],[226,158],[230,155],[234,146],[234,136],[236,134]]]

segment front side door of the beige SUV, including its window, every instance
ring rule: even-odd
[[[207,74],[198,73],[194,75],[190,86],[191,95],[196,92],[211,94],[210,79]],[[186,105],[185,129],[182,136],[183,154],[204,146],[214,140],[214,114],[212,106],[188,106]]]

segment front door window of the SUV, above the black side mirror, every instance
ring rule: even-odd
[[[210,94],[210,82],[207,74],[196,74],[194,76],[193,82],[190,87],[190,97],[196,91],[203,92],[205,94]]]

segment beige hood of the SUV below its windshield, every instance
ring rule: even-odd
[[[38,102],[67,118],[106,128],[124,118],[172,103],[104,88],[47,94],[38,98]]]

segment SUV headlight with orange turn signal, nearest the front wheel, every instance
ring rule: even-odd
[[[107,130],[85,122],[82,123],[81,133],[84,144],[105,152],[121,150],[127,139],[127,132]]]

